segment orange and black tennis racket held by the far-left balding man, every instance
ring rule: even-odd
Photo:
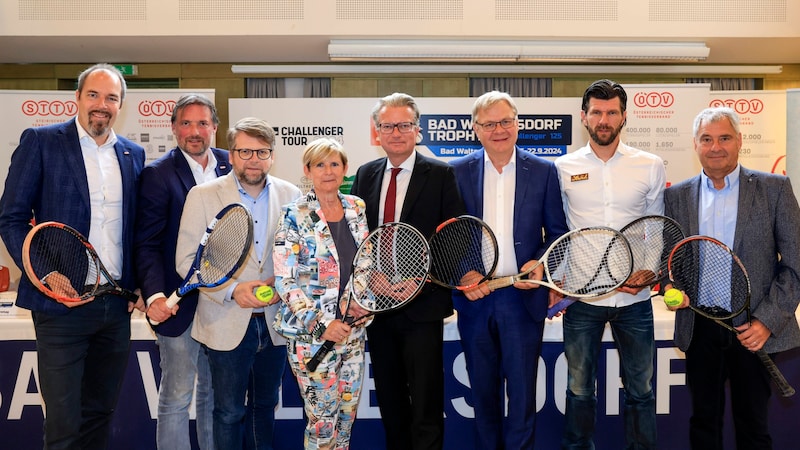
[[[22,244],[25,275],[44,295],[59,302],[80,302],[118,295],[136,303],[139,295],[120,287],[94,247],[77,230],[59,222],[33,227]]]

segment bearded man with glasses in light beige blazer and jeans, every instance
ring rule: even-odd
[[[253,290],[274,283],[272,244],[281,206],[300,190],[268,175],[275,144],[269,124],[244,118],[227,137],[233,170],[189,191],[175,263],[178,273],[189,270],[206,225],[223,207],[250,209],[255,234],[249,259],[231,282],[200,293],[192,337],[208,348],[217,450],[241,449],[243,442],[248,449],[271,449],[286,341],[272,328],[279,297],[265,304]]]

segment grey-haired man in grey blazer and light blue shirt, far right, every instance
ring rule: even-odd
[[[725,381],[730,382],[737,448],[772,448],[767,418],[770,377],[753,353],[800,346],[800,208],[785,176],[739,164],[742,134],[730,108],[708,108],[694,120],[696,177],[665,192],[666,215],[689,235],[721,240],[750,276],[752,320],[732,320],[737,336],[686,308],[677,308],[675,344],[686,352],[692,395],[692,448],[722,448]]]

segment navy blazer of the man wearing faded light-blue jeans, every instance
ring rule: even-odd
[[[210,150],[217,158],[217,176],[230,172],[228,152],[218,148]],[[156,292],[169,297],[186,276],[175,270],[175,246],[186,194],[194,185],[189,163],[178,148],[142,170],[134,252],[136,280],[145,300]],[[197,296],[196,290],[184,295],[178,313],[156,326],[156,331],[164,336],[183,334],[194,319]]]

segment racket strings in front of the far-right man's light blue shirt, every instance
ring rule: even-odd
[[[681,244],[673,252],[670,271],[691,305],[711,318],[728,319],[747,307],[747,272],[727,247],[715,241]]]

